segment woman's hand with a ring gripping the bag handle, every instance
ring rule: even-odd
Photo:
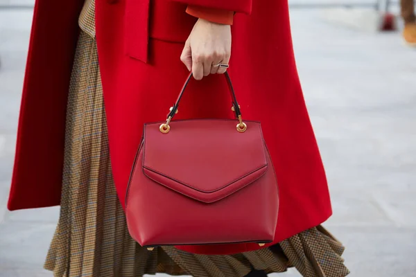
[[[231,27],[198,19],[185,43],[180,60],[192,71],[193,78],[201,80],[210,73],[225,73],[227,69],[212,66],[228,64],[230,56]]]

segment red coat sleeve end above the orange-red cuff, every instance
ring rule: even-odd
[[[190,6],[200,6],[204,8],[216,8],[219,10],[231,10],[233,12],[243,12],[250,14],[252,10],[252,0],[168,0],[184,3]]]

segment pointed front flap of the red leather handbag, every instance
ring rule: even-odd
[[[144,128],[143,170],[157,183],[200,202],[216,202],[266,173],[260,123],[236,120],[175,120],[168,134],[161,123]]]

